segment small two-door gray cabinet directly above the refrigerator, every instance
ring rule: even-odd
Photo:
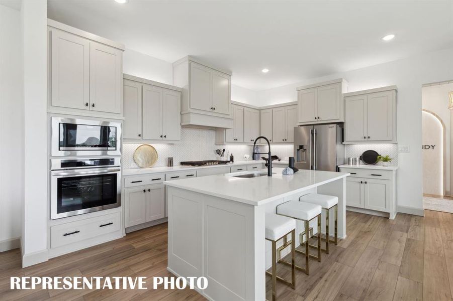
[[[344,79],[298,87],[297,91],[299,124],[344,121]]]

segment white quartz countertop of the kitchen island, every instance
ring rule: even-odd
[[[267,169],[261,170],[267,172]],[[254,206],[293,195],[341,178],[348,173],[299,170],[291,176],[282,175],[283,168],[273,168],[272,177],[236,178],[250,172],[189,178],[164,182],[165,185]]]

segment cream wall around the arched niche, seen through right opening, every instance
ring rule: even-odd
[[[450,78],[453,80],[453,78]],[[445,126],[445,194],[453,195],[453,171],[451,167],[453,143],[453,110],[449,110],[448,92],[453,91],[453,82],[446,84],[435,84],[422,89],[422,107],[425,110],[436,114]],[[426,151],[424,151],[426,152]]]

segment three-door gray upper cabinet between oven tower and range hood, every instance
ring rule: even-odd
[[[181,135],[181,89],[124,75],[123,139],[138,143],[174,143]]]

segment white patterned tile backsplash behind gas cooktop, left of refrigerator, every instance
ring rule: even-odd
[[[157,150],[157,162],[154,167],[166,166],[168,157],[173,157],[173,165],[181,161],[220,160],[215,150],[225,148],[225,157],[233,153],[235,161],[243,161],[244,155],[252,155],[252,145],[216,145],[215,130],[183,127],[181,141],[176,144],[152,144]],[[141,143],[123,143],[123,169],[139,168],[134,162],[135,149]],[[263,147],[267,152],[267,147]],[[293,155],[293,144],[271,145],[273,155],[284,159]],[[229,155],[228,155],[229,156]],[[228,157],[229,158],[229,157]]]

